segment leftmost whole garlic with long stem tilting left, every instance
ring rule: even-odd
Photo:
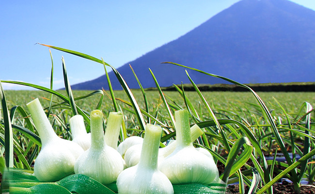
[[[27,107],[42,142],[34,164],[36,178],[54,182],[74,174],[74,164],[83,149],[77,143],[57,136],[38,98],[28,103]]]

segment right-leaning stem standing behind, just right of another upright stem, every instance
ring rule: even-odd
[[[105,130],[105,142],[108,146],[117,150],[118,137],[123,121],[123,114],[121,112],[111,112],[108,116],[107,127]]]

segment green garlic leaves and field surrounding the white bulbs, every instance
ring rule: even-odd
[[[95,61],[104,67],[110,66],[103,60],[83,53],[49,47]],[[190,124],[197,124],[204,130],[203,136],[194,142],[194,146],[204,147],[213,155],[218,166],[224,166],[220,177],[226,183],[239,181],[240,188],[244,188],[247,184],[252,194],[255,192],[271,194],[272,185],[284,177],[293,181],[296,191],[299,191],[302,178],[308,178],[310,183],[314,182],[315,111],[311,106],[315,104],[314,93],[256,93],[248,86],[205,72],[202,73],[230,81],[250,92],[205,92],[194,84],[189,75],[194,91],[186,91],[183,86],[181,88],[175,86],[176,91],[164,91],[159,87],[152,71],[151,76],[157,85],[157,91],[144,90],[139,80],[141,89],[132,90],[120,73],[110,67],[114,70],[124,91],[71,90],[64,61],[66,91],[54,91],[25,82],[1,81],[38,89],[3,91],[1,88],[0,90],[1,112],[3,112],[0,114],[0,151],[1,155],[5,153],[7,167],[14,167],[2,180],[3,190],[8,189],[7,186],[10,184],[12,186],[10,192],[15,193],[36,193],[43,191],[42,189],[47,191],[52,189],[83,194],[84,191],[79,189],[90,188],[96,191],[98,187],[105,187],[93,182],[91,178],[80,177],[80,175],[71,175],[64,180],[46,184],[38,183],[38,180],[31,176],[33,160],[38,155],[41,141],[32,125],[26,104],[36,97],[45,99],[42,105],[53,129],[64,139],[71,139],[68,121],[73,114],[81,114],[86,121],[86,129],[89,130],[89,113],[96,108],[102,110],[106,118],[110,112],[119,110],[123,113],[120,142],[128,136],[141,135],[144,124],[151,123],[163,128],[160,145],[164,146],[163,142],[176,138],[174,111],[187,109],[190,114]],[[146,117],[145,120],[143,116]],[[289,155],[291,150],[295,152],[293,157]],[[276,161],[275,153],[283,154],[285,162]],[[4,166],[4,162],[1,162],[1,169]],[[274,173],[277,175],[275,176]],[[19,176],[15,179],[18,181],[12,178],[15,176]],[[87,185],[87,182],[90,184]],[[109,193],[115,190],[115,184],[107,186]],[[222,189],[222,185],[217,186],[176,185],[174,190],[175,193],[183,193],[181,191],[187,188],[195,189],[195,193],[206,193],[211,188]],[[241,190],[241,193],[243,192],[244,190]]]

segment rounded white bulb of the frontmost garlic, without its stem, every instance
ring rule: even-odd
[[[135,186],[137,185],[137,186]],[[117,178],[119,194],[173,194],[170,180],[158,170],[143,169],[138,164],[125,169]]]

